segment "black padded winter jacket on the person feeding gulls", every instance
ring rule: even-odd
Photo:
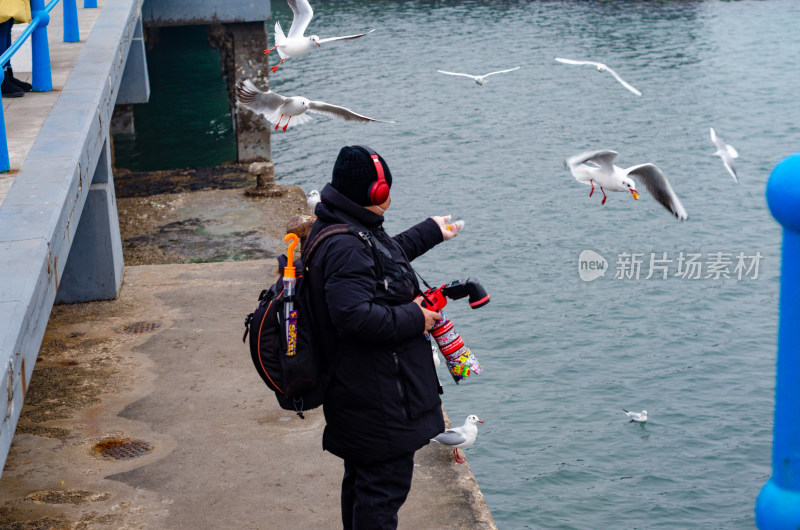
[[[425,318],[413,299],[419,284],[410,261],[442,242],[433,219],[394,237],[383,216],[326,185],[309,239],[330,224],[366,229],[381,259],[359,237],[326,239],[307,264],[315,344],[333,376],[325,395],[323,449],[360,463],[416,451],[444,430],[440,386]]]

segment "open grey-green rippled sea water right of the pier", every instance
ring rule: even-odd
[[[276,133],[278,181],[319,189],[342,145],[366,143],[394,176],[390,232],[467,221],[416,265],[431,284],[475,276],[492,296],[448,305],[484,373],[440,378],[454,423],[485,421],[466,454],[498,526],[753,528],[771,472],[780,273],[764,188],[798,150],[800,3],[313,7],[309,33],[377,31],[286,61],[272,89],[397,123],[315,117]],[[288,30],[291,11],[275,0],[273,18]],[[605,62],[643,96],[556,56]],[[484,86],[436,72],[514,66]],[[709,127],[738,149],[740,184],[711,156]],[[657,164],[688,222],[644,190],[590,198],[563,161],[594,149]],[[608,262],[591,282],[578,274],[587,249]],[[700,278],[680,274],[690,254]],[[739,254],[748,267],[761,256],[757,274],[737,277]]]

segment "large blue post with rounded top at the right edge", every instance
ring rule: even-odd
[[[767,181],[767,204],[783,226],[772,477],[756,499],[762,530],[800,528],[800,153]]]

